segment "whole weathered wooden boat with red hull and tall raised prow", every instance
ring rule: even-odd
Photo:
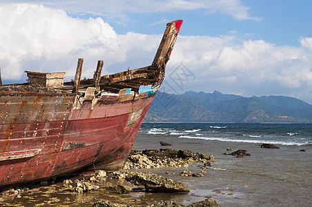
[[[144,116],[164,81],[182,20],[167,24],[150,66],[64,83],[65,72],[28,73],[28,83],[0,83],[0,186],[81,168],[124,166]],[[0,78],[1,79],[1,78]]]

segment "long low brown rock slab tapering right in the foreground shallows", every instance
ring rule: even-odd
[[[145,190],[159,192],[189,192],[185,184],[166,177],[143,172],[126,173],[126,181],[136,186],[144,186]]]

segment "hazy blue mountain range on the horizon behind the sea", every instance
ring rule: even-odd
[[[284,96],[158,92],[145,122],[312,123],[312,105]]]

